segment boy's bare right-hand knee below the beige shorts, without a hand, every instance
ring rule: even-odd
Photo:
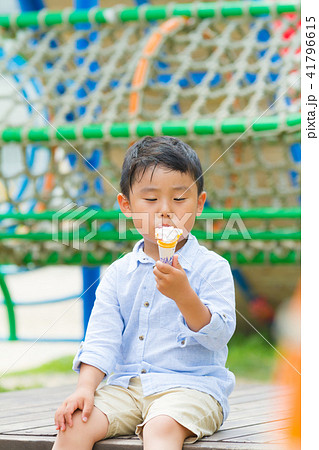
[[[195,434],[172,417],[159,415],[144,425],[144,450],[181,450],[184,440],[189,436]]]

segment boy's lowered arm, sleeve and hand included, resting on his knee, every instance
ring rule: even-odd
[[[116,276],[113,263],[96,290],[85,341],[73,361],[73,369],[80,374],[77,388],[55,414],[57,430],[64,431],[67,425],[72,426],[76,409],[82,410],[82,420],[87,421],[93,410],[97,386],[116,364],[124,328],[115,288]]]

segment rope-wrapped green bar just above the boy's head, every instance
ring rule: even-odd
[[[248,119],[245,117],[229,118],[221,122],[220,128],[216,126],[214,119],[197,120],[189,123],[187,120],[171,120],[160,123],[156,122],[138,122],[134,126],[126,122],[113,123],[109,132],[107,133],[103,124],[93,124],[85,126],[65,125],[57,127],[54,136],[58,140],[76,140],[79,138],[85,139],[110,139],[110,138],[134,138],[136,135],[155,136],[156,130],[163,135],[171,136],[187,136],[195,135],[214,135],[219,131],[223,134],[239,134],[244,133],[249,128],[256,133],[271,131],[277,129],[280,125],[291,128],[292,131],[300,130],[301,114],[289,114],[286,117],[271,116],[256,119]],[[293,130],[295,128],[296,130]],[[0,141],[3,142],[23,142],[24,136],[27,136],[29,142],[49,141],[51,129],[49,127],[43,128],[6,128],[0,134]]]

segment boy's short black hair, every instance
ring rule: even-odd
[[[129,199],[136,177],[143,177],[149,167],[167,167],[189,173],[197,184],[198,195],[204,189],[203,170],[195,150],[172,136],[146,136],[135,142],[126,152],[121,174],[121,191]]]

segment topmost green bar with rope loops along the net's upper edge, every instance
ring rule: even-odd
[[[90,13],[88,10],[72,10],[70,13],[62,11],[47,12],[24,12],[18,15],[1,15],[0,26],[4,28],[18,27],[26,28],[31,26],[51,27],[67,23],[75,25],[78,23],[116,23],[131,21],[153,21],[165,20],[170,17],[197,17],[219,18],[250,16],[258,17],[261,15],[280,15],[284,13],[294,13],[300,11],[300,1],[290,0],[274,2],[263,1],[257,4],[252,1],[235,2],[209,2],[209,3],[185,3],[167,5],[145,5],[143,8],[127,8],[123,6],[120,9],[104,8],[96,9]]]

